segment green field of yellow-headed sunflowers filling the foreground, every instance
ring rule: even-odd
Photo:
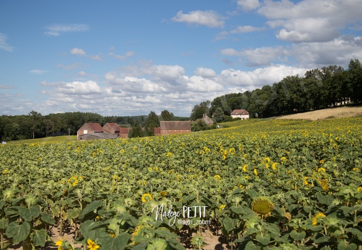
[[[225,125],[1,145],[1,249],[362,249],[362,117]]]

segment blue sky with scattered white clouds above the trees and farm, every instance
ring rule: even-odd
[[[0,115],[189,117],[351,59],[361,0],[0,0]]]

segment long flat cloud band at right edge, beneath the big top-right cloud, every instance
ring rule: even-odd
[[[300,42],[290,46],[256,49],[221,50],[223,56],[236,57],[246,66],[263,67],[272,64],[294,63],[316,68],[326,65],[345,65],[351,58],[362,58],[362,37],[338,37],[326,42]]]

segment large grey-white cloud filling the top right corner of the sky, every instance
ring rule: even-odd
[[[326,42],[340,36],[340,29],[361,20],[362,2],[354,0],[265,1],[258,13],[267,24],[280,28],[276,37],[291,42]]]

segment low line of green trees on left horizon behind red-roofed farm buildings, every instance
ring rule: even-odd
[[[151,112],[150,115],[154,119],[157,117],[154,112]],[[150,115],[103,117],[97,113],[82,112],[41,115],[41,113],[31,110],[28,115],[2,115],[0,117],[0,139],[9,141],[43,138],[49,135],[76,135],[78,129],[86,122],[97,122],[102,126],[107,122],[116,122],[122,126],[132,128],[139,126],[141,128],[154,124]],[[158,126],[159,119],[173,120],[184,119],[184,117],[174,117],[173,113],[164,110],[161,116],[157,117]]]

